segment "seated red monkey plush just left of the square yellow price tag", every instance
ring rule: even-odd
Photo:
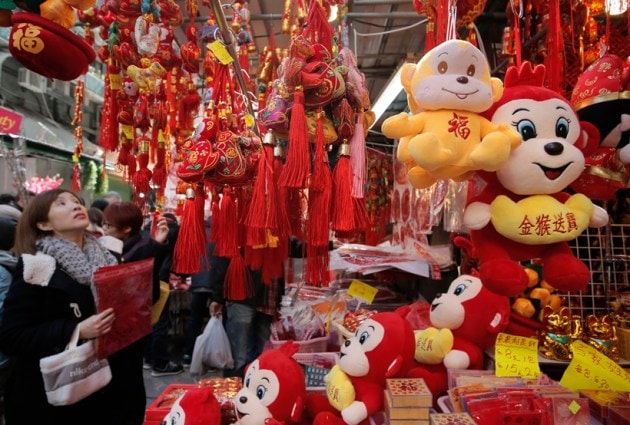
[[[437,400],[448,389],[448,369],[483,369],[483,350],[508,326],[510,302],[462,275],[433,299],[429,318],[432,327],[415,331],[418,365],[409,377],[423,378]]]

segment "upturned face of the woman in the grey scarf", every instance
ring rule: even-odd
[[[86,208],[71,193],[61,193],[51,204],[48,221],[38,223],[45,231],[52,231],[57,236],[84,232],[90,224]]]

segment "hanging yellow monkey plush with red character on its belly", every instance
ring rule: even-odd
[[[416,65],[405,64],[402,85],[411,114],[385,120],[387,137],[401,139],[398,161],[410,183],[431,186],[438,179],[466,180],[475,170],[495,171],[521,143],[506,124],[479,115],[501,98],[503,85],[490,76],[481,51],[450,40],[430,50]]]

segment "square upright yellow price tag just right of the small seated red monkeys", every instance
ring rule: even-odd
[[[494,347],[495,374],[536,378],[540,375],[538,340],[500,333]]]

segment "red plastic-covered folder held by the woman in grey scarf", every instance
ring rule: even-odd
[[[100,313],[112,307],[116,315],[112,330],[98,338],[100,359],[151,333],[152,286],[153,258],[94,272],[96,310]]]

